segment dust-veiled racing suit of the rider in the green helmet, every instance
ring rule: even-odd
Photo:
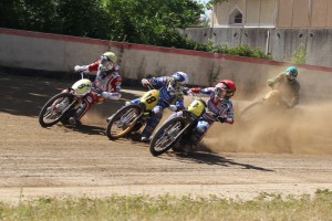
[[[297,80],[292,82],[288,81],[286,73],[279,74],[273,80],[268,80],[268,86],[271,86],[273,91],[268,93],[264,99],[269,99],[272,96],[277,96],[283,101],[288,108],[294,107],[299,104],[300,99],[300,83]]]

